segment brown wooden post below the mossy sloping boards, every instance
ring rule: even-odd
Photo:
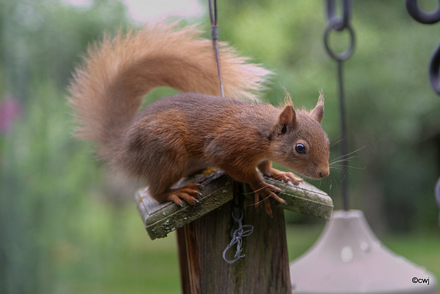
[[[243,238],[245,258],[228,264],[222,255],[231,240],[232,209],[232,202],[223,204],[177,230],[182,293],[292,293],[283,209],[274,207],[270,218],[264,205],[247,200],[243,224],[254,231]],[[228,251],[230,260],[235,250]]]

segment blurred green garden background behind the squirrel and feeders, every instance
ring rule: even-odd
[[[164,17],[200,23],[207,1],[0,0],[0,293],[179,293],[175,235],[151,241],[133,187],[106,175],[91,145],[72,138],[66,102],[73,68],[103,32]],[[420,1],[421,2],[421,1]],[[182,4],[183,3],[183,4]],[[421,3],[433,10],[437,1]],[[321,0],[219,1],[220,39],[275,75],[264,98],[285,86],[311,108],[321,88],[322,125],[339,130],[336,63],[325,52]],[[362,209],[395,253],[440,277],[440,97],[428,61],[440,24],[421,25],[404,1],[353,1],[353,55],[344,63],[350,206]],[[344,50],[347,34],[332,34]],[[147,101],[172,93],[154,91]],[[312,181],[341,209],[340,169]],[[289,258],[314,243],[325,222],[286,213]]]

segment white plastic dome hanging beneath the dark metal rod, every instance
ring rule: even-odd
[[[314,246],[289,267],[295,294],[437,293],[434,275],[386,248],[359,210],[334,211]]]

